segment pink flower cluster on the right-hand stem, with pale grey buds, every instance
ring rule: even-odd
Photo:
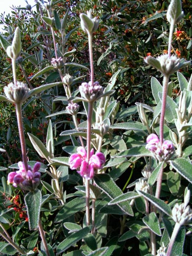
[[[168,160],[175,152],[174,145],[171,141],[166,140],[161,146],[158,136],[154,133],[146,138],[146,143],[146,149],[151,151],[154,158],[159,161]]]

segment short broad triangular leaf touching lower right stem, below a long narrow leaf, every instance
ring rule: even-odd
[[[151,212],[147,216],[143,218],[144,224],[157,236],[161,236],[161,229],[159,220],[155,214],[155,212]]]

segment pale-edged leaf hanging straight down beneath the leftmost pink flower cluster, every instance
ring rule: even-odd
[[[29,218],[29,229],[37,229],[39,225],[42,193],[39,189],[30,191],[25,195],[24,200]]]

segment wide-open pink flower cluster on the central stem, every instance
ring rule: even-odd
[[[77,153],[69,157],[69,165],[72,170],[76,169],[77,172],[85,179],[92,179],[94,171],[101,169],[105,163],[105,156],[102,153],[94,154],[94,149],[90,152],[89,162],[87,160],[87,152],[85,148],[78,147]]]

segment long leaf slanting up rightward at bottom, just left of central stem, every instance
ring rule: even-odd
[[[82,228],[81,230],[78,230],[77,232],[71,234],[68,236],[64,241],[59,243],[57,246],[57,254],[60,254],[64,251],[66,251],[68,248],[70,248],[72,245],[74,245],[79,240],[85,238],[87,234],[91,231],[92,227],[88,226],[85,228]]]

